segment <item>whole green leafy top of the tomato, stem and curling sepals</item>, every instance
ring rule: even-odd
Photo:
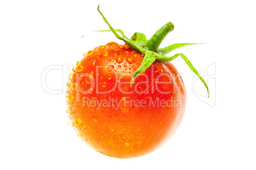
[[[97,10],[99,11],[99,6],[98,6]],[[159,49],[159,45],[163,41],[164,37],[166,37],[166,35],[174,29],[173,23],[171,23],[171,22],[166,23],[166,25],[162,26],[159,30],[157,30],[157,32],[155,32],[155,34],[148,41],[146,40],[146,36],[139,32],[136,32],[131,37],[131,39],[129,39],[128,37],[126,37],[124,35],[124,32],[122,30],[113,29],[113,27],[111,27],[110,23],[108,23],[108,21],[104,17],[103,13],[101,13],[101,11],[99,11],[99,13],[103,17],[104,22],[110,28],[110,30],[100,30],[101,32],[103,32],[103,31],[113,32],[113,34],[115,34],[115,36],[118,39],[124,41],[125,44],[127,44],[129,47],[138,51],[142,55],[145,55],[141,65],[139,66],[139,69],[137,69],[136,72],[134,72],[134,74],[132,75],[131,86],[132,86],[134,80],[136,79],[136,77],[138,77],[139,74],[143,73],[146,69],[148,69],[148,67],[150,67],[150,65],[152,65],[152,63],[155,62],[155,60],[157,60],[159,62],[171,62],[178,56],[181,56],[181,58],[183,58],[183,60],[185,60],[185,62],[187,63],[188,67],[190,67],[190,69],[204,83],[204,86],[206,86],[206,89],[208,91],[208,98],[209,98],[209,89],[208,89],[206,82],[204,81],[203,77],[199,74],[199,72],[197,72],[197,70],[192,65],[192,63],[188,60],[187,56],[183,55],[182,53],[178,53],[171,57],[164,56],[164,54],[169,53],[170,51],[173,51],[174,49],[181,48],[183,46],[187,46],[190,44],[196,44],[196,43],[178,43],[178,44],[172,44],[170,46],[167,46],[166,48]],[[117,32],[120,32],[122,37]]]

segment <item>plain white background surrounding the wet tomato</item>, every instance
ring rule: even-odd
[[[187,110],[166,145],[135,159],[114,159],[87,147],[68,126],[65,94],[50,95],[41,74],[50,65],[75,65],[83,53],[117,40],[97,13],[116,29],[149,38],[166,22],[175,29],[162,47],[176,49],[198,70],[216,64],[212,107],[193,93],[194,73],[181,58]],[[1,1],[0,169],[256,169],[255,4],[253,1]],[[82,37],[85,35],[84,37]],[[82,37],[82,38],[81,38]],[[46,83],[62,89],[62,71]],[[202,83],[194,91],[205,93]],[[216,89],[216,93],[215,93]],[[65,89],[64,89],[65,91]]]

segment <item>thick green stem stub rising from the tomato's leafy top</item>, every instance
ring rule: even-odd
[[[174,25],[171,22],[166,23],[166,25],[162,26],[153,36],[146,42],[146,49],[151,51],[157,51],[161,42],[164,40],[164,37],[174,29]]]

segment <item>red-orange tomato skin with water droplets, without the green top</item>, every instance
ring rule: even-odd
[[[186,91],[178,70],[171,63],[154,62],[131,88],[131,75],[142,60],[129,46],[110,42],[85,54],[70,77],[69,123],[101,154],[148,154],[181,123]]]

